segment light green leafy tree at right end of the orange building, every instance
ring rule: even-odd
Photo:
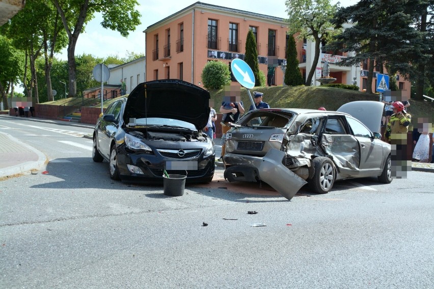
[[[288,34],[297,35],[297,40],[307,38],[315,42],[315,55],[306,79],[306,85],[310,85],[318,64],[321,41],[339,33],[330,22],[338,6],[331,5],[330,0],[286,0],[285,4]]]

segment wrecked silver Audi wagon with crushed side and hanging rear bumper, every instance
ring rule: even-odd
[[[357,101],[338,111],[252,110],[226,134],[225,178],[263,181],[288,199],[306,183],[316,193],[349,178],[378,177],[388,184],[391,146],[378,133],[383,105]]]

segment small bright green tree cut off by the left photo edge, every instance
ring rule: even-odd
[[[4,107],[8,109],[7,95],[13,92],[14,83],[23,73],[24,53],[10,39],[0,35],[0,55],[0,94]]]

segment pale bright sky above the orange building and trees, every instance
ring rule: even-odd
[[[138,10],[142,14],[141,22],[135,31],[130,32],[127,38],[122,37],[119,32],[106,30],[101,27],[102,17],[96,15],[88,25],[86,31],[78,37],[75,46],[75,55],[83,53],[92,54],[95,57],[107,57],[110,55],[125,57],[128,52],[144,53],[145,52],[145,34],[146,28],[161,19],[164,19],[194,3],[198,0],[138,0]],[[205,0],[201,1],[207,4],[214,4],[223,7],[229,7],[254,13],[260,13],[275,17],[287,18],[285,0],[268,0],[266,5],[264,0],[220,0],[219,2]],[[337,0],[332,0],[332,4]],[[357,0],[340,0],[340,6],[350,6],[357,3]],[[62,53],[56,54],[56,57],[67,60],[66,48]]]

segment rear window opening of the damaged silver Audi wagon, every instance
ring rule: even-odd
[[[246,114],[237,124],[248,127],[284,128],[292,116],[289,112],[253,111]]]

